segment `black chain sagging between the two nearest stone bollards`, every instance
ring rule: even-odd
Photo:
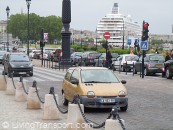
[[[76,102],[77,102],[77,104],[78,104],[78,107],[79,107],[79,110],[80,110],[80,112],[81,112],[81,114],[82,114],[83,119],[84,119],[85,122],[88,123],[92,128],[94,128],[94,129],[99,129],[99,128],[105,126],[105,121],[104,121],[103,123],[101,123],[100,125],[97,125],[97,126],[94,126],[93,123],[91,123],[91,121],[89,122],[89,120],[86,118],[85,113],[82,111],[82,108],[81,108],[81,106],[80,106],[79,100],[77,100]],[[110,119],[111,116],[112,116],[112,114],[110,113],[110,114],[108,115],[107,119]]]

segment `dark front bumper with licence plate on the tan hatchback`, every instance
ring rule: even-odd
[[[80,102],[89,108],[112,108],[113,106],[124,107],[128,104],[128,97],[101,97],[88,98],[80,96]]]

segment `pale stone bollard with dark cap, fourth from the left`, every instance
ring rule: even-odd
[[[40,109],[41,103],[38,99],[36,91],[36,81],[33,81],[32,87],[29,87],[29,93],[27,96],[27,108],[28,109]]]

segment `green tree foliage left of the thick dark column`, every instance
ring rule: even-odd
[[[29,15],[29,39],[40,40],[41,29],[48,33],[49,42],[53,43],[54,39],[61,40],[62,20],[61,17],[48,16],[40,17],[34,13]],[[8,31],[13,37],[18,37],[23,41],[27,40],[28,35],[28,15],[16,14],[11,15],[8,23]]]

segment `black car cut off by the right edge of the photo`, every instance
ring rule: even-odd
[[[172,79],[173,77],[173,59],[164,62],[164,68],[162,69],[162,77]]]

